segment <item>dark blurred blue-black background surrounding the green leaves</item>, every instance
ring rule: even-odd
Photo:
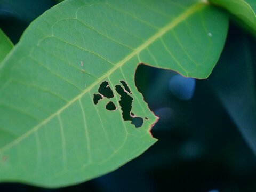
[[[0,28],[15,44],[57,3],[0,0]],[[243,110],[255,101],[255,43],[231,23],[221,58],[205,80],[140,65],[135,83],[160,117],[152,130],[159,141],[120,169],[66,188],[1,183],[0,191],[256,191],[254,140],[246,132],[255,129],[256,111]]]

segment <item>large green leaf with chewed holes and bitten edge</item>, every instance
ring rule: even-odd
[[[0,70],[0,180],[66,186],[137,157],[157,121],[138,64],[206,78],[227,29],[201,1],[67,0],[45,12]]]

